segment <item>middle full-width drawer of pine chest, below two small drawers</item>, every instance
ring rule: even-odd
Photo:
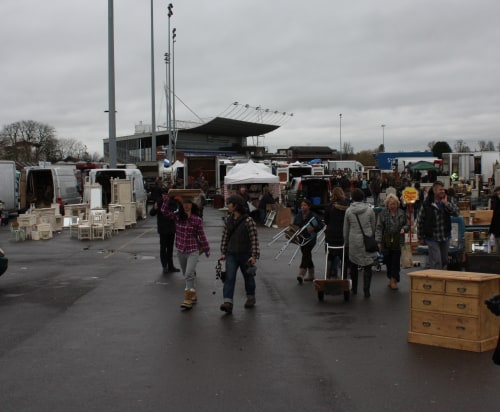
[[[429,312],[451,313],[469,316],[479,315],[477,299],[461,296],[445,296],[413,292],[411,308]]]

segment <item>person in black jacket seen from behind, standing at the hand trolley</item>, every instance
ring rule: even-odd
[[[349,202],[345,198],[344,191],[341,187],[337,186],[333,189],[331,203],[325,209],[325,224],[326,234],[325,241],[328,246],[344,246],[344,217]],[[342,259],[342,249],[326,250],[328,253],[328,260],[326,266],[327,278],[338,277],[337,269],[339,261]],[[344,257],[348,255],[348,251],[344,250]],[[347,273],[347,264],[342,262],[345,275]]]

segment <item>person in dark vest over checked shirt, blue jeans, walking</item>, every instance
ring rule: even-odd
[[[228,314],[233,312],[234,288],[236,275],[241,270],[245,280],[247,300],[245,308],[255,306],[255,263],[260,257],[259,239],[255,221],[247,214],[245,201],[239,195],[227,199],[229,215],[222,232],[220,260],[226,261],[226,279],[224,281],[224,302],[220,310]]]

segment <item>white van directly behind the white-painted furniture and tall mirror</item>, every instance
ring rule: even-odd
[[[99,183],[102,186],[102,207],[111,203],[111,179],[128,179],[132,181],[132,202],[137,203],[137,218],[145,219],[147,193],[144,179],[139,169],[92,169],[87,182]],[[85,193],[84,193],[85,198]]]

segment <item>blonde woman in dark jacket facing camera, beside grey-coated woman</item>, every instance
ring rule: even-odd
[[[384,254],[389,278],[388,286],[392,290],[397,290],[401,270],[401,248],[405,244],[405,233],[410,230],[410,226],[405,211],[399,207],[396,195],[388,195],[384,203],[385,209],[378,217],[375,239],[379,251]]]

